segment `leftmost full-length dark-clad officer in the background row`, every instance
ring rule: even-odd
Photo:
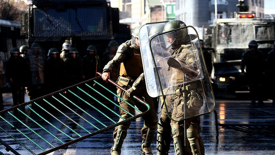
[[[25,102],[25,86],[28,81],[28,66],[20,51],[14,47],[10,51],[10,58],[6,64],[5,73],[12,88],[13,106]]]

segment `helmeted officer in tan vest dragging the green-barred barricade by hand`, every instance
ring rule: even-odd
[[[151,142],[154,135],[154,131],[157,126],[157,116],[154,110],[154,103],[152,97],[150,97],[146,91],[145,80],[143,74],[143,66],[141,61],[141,53],[139,47],[139,37],[138,30],[140,26],[136,27],[132,32],[131,40],[122,43],[115,55],[115,57],[105,65],[102,79],[107,81],[110,78],[110,73],[115,71],[120,65],[119,78],[117,83],[127,89],[127,92],[123,92],[118,88],[117,94],[127,100],[132,105],[136,105],[141,111],[145,111],[145,107],[141,107],[140,104],[131,96],[136,95],[140,98],[144,97],[145,102],[150,105],[150,110],[147,114],[143,115],[144,125],[141,129],[142,143],[141,143],[141,153],[143,155],[152,155]],[[134,108],[130,107],[127,103],[119,99],[119,105],[129,111],[134,113]],[[130,115],[121,110],[120,115],[127,119]],[[119,121],[122,121],[120,119]],[[121,146],[123,140],[127,135],[127,129],[129,128],[131,122],[126,122],[115,128],[113,138],[114,145],[111,148],[112,155],[120,155]]]

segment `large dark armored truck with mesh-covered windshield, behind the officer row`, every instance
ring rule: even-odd
[[[119,10],[106,0],[32,0],[21,18],[21,35],[29,47],[36,42],[44,50],[61,50],[65,40],[86,53],[95,45],[100,55],[110,40],[130,39],[130,26],[119,24]]]

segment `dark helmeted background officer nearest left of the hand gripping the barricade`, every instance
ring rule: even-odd
[[[86,50],[87,54],[84,55],[81,63],[81,73],[83,80],[89,80],[96,75],[97,60],[95,58],[97,49],[94,45],[90,45]]]

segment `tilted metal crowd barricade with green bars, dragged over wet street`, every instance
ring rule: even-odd
[[[149,111],[149,104],[136,96],[133,98],[145,106],[146,111],[141,112],[127,101],[135,109],[134,114],[120,107],[112,98],[116,92],[106,88],[101,73],[97,74],[96,78],[0,111],[0,144],[16,155],[26,151],[34,155],[48,154],[137,119]],[[116,82],[110,79],[108,82],[126,91]],[[111,98],[107,97],[109,93]],[[87,97],[93,102],[87,102]],[[123,100],[118,95],[116,97]],[[112,109],[111,105],[117,108]],[[120,110],[131,117],[121,117]],[[5,142],[10,139],[14,139],[13,145]]]

